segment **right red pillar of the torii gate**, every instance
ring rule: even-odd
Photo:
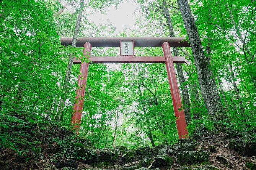
[[[188,138],[188,129],[186,119],[184,115],[184,109],[181,103],[181,95],[179,94],[178,81],[176,78],[173,57],[171,56],[170,45],[168,42],[164,42],[162,45],[163,55],[165,56],[165,66],[171,90],[171,99],[173,101],[173,110],[176,117],[176,126],[178,130],[179,139]]]

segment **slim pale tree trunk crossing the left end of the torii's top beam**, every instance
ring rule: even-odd
[[[75,32],[73,35],[73,41],[72,41],[72,45],[71,45],[72,47],[77,46],[77,37],[78,37],[78,32],[80,29],[80,24],[81,24],[81,19],[82,19],[82,14],[83,14],[84,1],[85,0],[80,1],[80,8],[79,8],[79,13],[78,13],[78,17],[77,17],[77,23],[75,26]],[[60,98],[60,106],[59,106],[57,116],[55,117],[55,120],[62,120],[63,116],[64,116],[63,111],[64,111],[65,101],[67,99],[67,94],[68,94],[68,84],[70,81],[70,75],[71,75],[71,70],[72,70],[72,65],[73,65],[73,58],[74,58],[73,53],[70,53],[69,60],[68,60],[68,67],[66,70],[65,80],[64,80],[63,90],[62,90],[62,96]]]

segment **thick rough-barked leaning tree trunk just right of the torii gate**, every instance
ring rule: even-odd
[[[208,64],[204,55],[204,50],[199,37],[196,23],[191,14],[187,0],[178,0],[179,10],[188,33],[191,50],[194,55],[194,63],[197,70],[197,77],[201,89],[202,97],[210,117],[215,120],[226,118],[217,86],[210,76]]]

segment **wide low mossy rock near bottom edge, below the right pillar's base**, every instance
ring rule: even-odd
[[[177,162],[180,165],[192,165],[200,164],[201,162],[206,162],[209,159],[209,154],[207,152],[189,151],[189,152],[179,152],[177,155]]]

